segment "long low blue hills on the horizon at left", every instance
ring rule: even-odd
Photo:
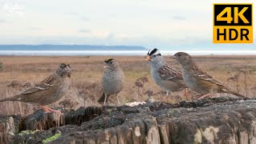
[[[143,46],[0,45],[0,50],[147,50]]]

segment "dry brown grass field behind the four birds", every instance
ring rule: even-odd
[[[119,94],[122,104],[146,100],[146,91],[154,92],[155,101],[160,101],[162,91],[153,82],[150,75],[150,65],[142,56],[0,56],[0,98],[11,97],[26,89],[27,86],[41,82],[52,73],[62,62],[70,63],[72,67],[72,86],[64,98],[51,106],[78,108],[80,106],[99,106],[101,96],[102,63],[106,58],[116,58],[121,64],[125,75],[125,86]],[[179,69],[178,63],[165,58],[170,66]],[[256,92],[256,56],[196,56],[195,62],[247,97],[254,97]],[[2,62],[2,68],[1,68]],[[144,77],[144,86],[135,86],[138,78]],[[148,82],[146,81],[148,78]],[[143,79],[143,78],[142,78]],[[142,82],[143,83],[143,82]],[[138,96],[138,91],[139,95]],[[226,96],[227,94],[216,94]],[[188,100],[197,96],[190,92]],[[172,94],[167,102],[186,100],[183,92]],[[110,98],[110,104],[116,103],[116,98]],[[0,114],[31,114],[38,106],[23,102],[1,102]]]

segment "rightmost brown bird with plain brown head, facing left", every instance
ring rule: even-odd
[[[178,52],[174,54],[172,58],[175,58],[182,66],[182,77],[186,82],[186,86],[190,90],[194,90],[199,94],[206,94],[203,98],[209,94],[215,93],[229,93],[238,97],[244,98],[242,94],[238,94],[230,90],[218,79],[208,74],[205,70],[202,70],[190,56],[184,52]]]

